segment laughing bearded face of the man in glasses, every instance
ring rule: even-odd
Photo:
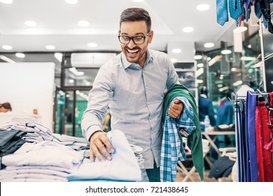
[[[120,36],[145,36],[148,34],[148,29],[145,21],[136,22],[123,22],[120,25]],[[141,67],[144,66],[146,61],[146,50],[148,43],[151,43],[153,38],[153,31],[145,38],[144,43],[136,45],[132,39],[130,43],[120,43],[121,49],[123,50],[128,62],[134,62],[139,64]]]

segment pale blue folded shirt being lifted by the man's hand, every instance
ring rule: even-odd
[[[90,162],[85,159],[76,172],[67,176],[69,181],[141,181],[141,169],[125,134],[120,130],[107,132],[115,152],[112,160]]]

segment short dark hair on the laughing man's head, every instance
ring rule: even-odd
[[[125,21],[134,22],[142,20],[146,22],[147,30],[151,31],[152,22],[148,11],[144,10],[144,8],[127,8],[120,15],[120,26]]]

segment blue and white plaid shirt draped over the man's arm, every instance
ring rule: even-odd
[[[179,99],[183,103],[183,111],[176,119],[170,117],[168,110],[166,111],[160,158],[160,180],[163,182],[176,181],[177,161],[186,160],[186,152],[179,132],[188,137],[196,128],[193,122],[193,107],[188,99],[185,97],[176,97],[175,99]]]

